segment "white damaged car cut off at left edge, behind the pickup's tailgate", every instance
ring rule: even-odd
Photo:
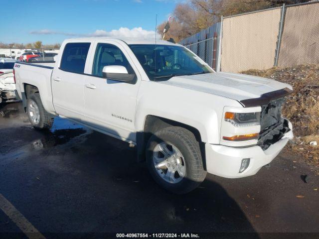
[[[0,58],[0,103],[16,100],[13,67],[15,60]]]

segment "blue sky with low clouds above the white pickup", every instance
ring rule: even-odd
[[[79,36],[154,37],[183,0],[0,0],[0,42],[61,43]]]

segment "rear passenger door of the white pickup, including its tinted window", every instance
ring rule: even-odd
[[[62,57],[52,73],[53,105],[61,117],[85,122],[83,85],[90,42],[72,42],[64,46]]]

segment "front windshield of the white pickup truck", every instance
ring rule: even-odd
[[[198,56],[181,46],[139,44],[130,45],[130,48],[150,80],[214,72]]]

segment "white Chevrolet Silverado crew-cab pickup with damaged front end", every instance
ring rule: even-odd
[[[134,144],[155,181],[178,194],[206,172],[254,175],[293,137],[281,117],[290,85],[216,73],[167,41],[69,39],[55,63],[16,62],[14,70],[34,128],[59,116]]]

